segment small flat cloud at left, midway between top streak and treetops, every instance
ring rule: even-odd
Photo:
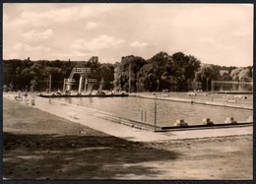
[[[52,30],[46,30],[46,31],[29,31],[23,34],[23,37],[25,37],[28,40],[31,41],[40,41],[49,39],[51,35],[53,34]]]

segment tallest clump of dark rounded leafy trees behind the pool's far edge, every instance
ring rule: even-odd
[[[159,52],[148,61],[139,59],[142,61],[139,63],[133,62],[136,59],[138,57],[122,57],[121,63],[115,68],[116,84],[127,86],[129,64],[132,63],[131,84],[134,85],[136,82],[137,88],[144,84],[145,90],[148,91],[162,91],[164,89],[187,91],[192,84],[195,71],[198,70],[201,63],[194,56],[187,56],[182,52],[177,52],[172,56],[166,52]],[[123,83],[118,83],[120,79]],[[153,80],[155,80],[154,83]]]

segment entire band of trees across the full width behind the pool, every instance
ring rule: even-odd
[[[187,92],[211,90],[212,81],[252,80],[253,69],[248,67],[225,67],[201,63],[192,55],[176,52],[169,55],[159,52],[150,59],[140,56],[124,56],[114,64],[100,63],[96,56],[88,61],[31,61],[12,59],[3,61],[4,91],[47,91],[48,78],[52,78],[52,90],[62,90],[64,79],[74,67],[89,67],[90,78],[104,81],[105,90],[118,88],[130,92]],[[79,81],[79,75],[74,79]],[[78,83],[74,88],[77,88]]]

